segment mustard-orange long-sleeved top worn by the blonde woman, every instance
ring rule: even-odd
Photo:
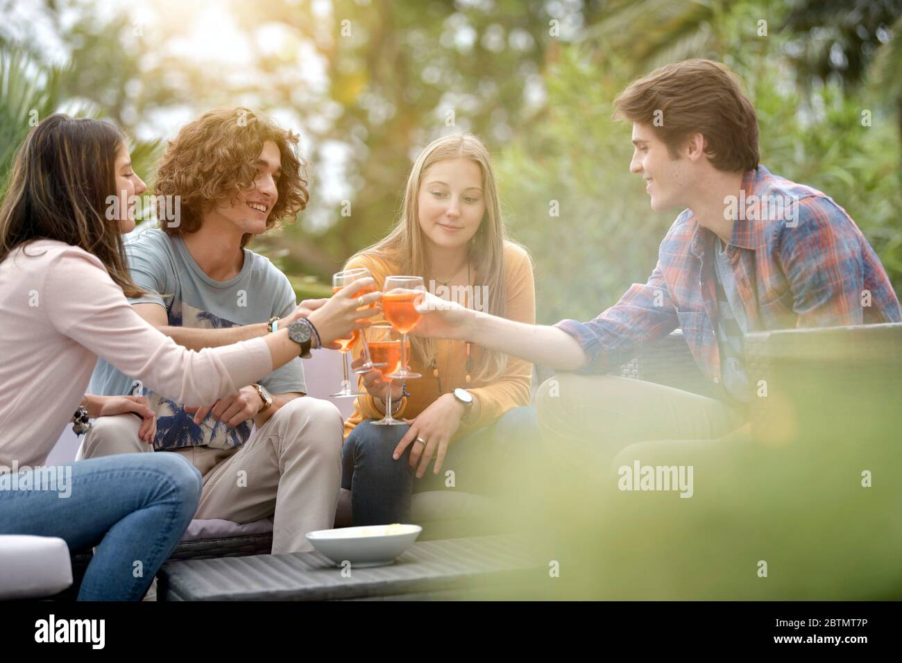
[[[382,290],[385,277],[396,274],[394,265],[382,258],[373,255],[356,256],[345,265],[345,270],[355,267],[366,267],[373,274],[376,281],[376,290]],[[428,283],[427,283],[428,287]],[[525,322],[529,325],[536,323],[536,286],[532,277],[532,263],[529,255],[517,244],[504,243],[504,290],[507,296],[506,317],[511,320]],[[370,318],[373,323],[384,322],[382,314]],[[438,385],[429,366],[422,365],[415,356],[408,359],[410,368],[415,373],[421,373],[423,377],[407,381],[407,391],[410,397],[404,398],[401,408],[394,414],[396,419],[414,419],[420,412],[436,401],[442,393],[450,393],[457,387],[470,391],[479,399],[480,414],[476,419],[467,424],[461,423],[457,435],[465,435],[476,428],[488,426],[502,416],[507,410],[529,405],[529,386],[532,380],[532,364],[517,357],[508,357],[504,373],[494,382],[477,381],[483,347],[470,345],[470,355],[473,357],[473,382],[466,383],[466,343],[465,341],[450,341],[435,339],[433,341],[436,351],[436,364],[438,377],[441,381],[442,391],[439,393]],[[359,356],[363,348],[358,343],[354,347],[354,356]],[[413,353],[411,353],[413,355]],[[360,382],[360,391],[365,391],[363,381]],[[345,421],[345,437],[364,419],[382,419],[383,414],[376,408],[373,397],[369,394],[359,396],[354,401],[354,413]]]

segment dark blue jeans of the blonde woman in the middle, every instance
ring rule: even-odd
[[[410,522],[413,493],[446,490],[446,471],[455,472],[455,488],[492,494],[504,490],[502,474],[513,474],[524,459],[535,459],[538,421],[534,408],[514,408],[492,425],[461,437],[448,446],[439,474],[429,465],[416,479],[410,469],[409,445],[398,460],[391,452],[410,426],[373,426],[364,419],[345,438],[342,449],[342,487],[351,491],[354,525]]]

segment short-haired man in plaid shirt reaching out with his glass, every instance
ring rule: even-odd
[[[683,208],[649,280],[588,322],[530,326],[427,303],[415,332],[572,372],[537,395],[542,433],[563,441],[561,453],[610,459],[640,442],[723,437],[743,427],[753,394],[744,334],[900,320],[887,273],[842,207],[759,164],[755,111],[729,69],[667,65],[614,105],[632,122],[630,170],[648,182],[651,207]],[[718,398],[600,374],[677,327]]]

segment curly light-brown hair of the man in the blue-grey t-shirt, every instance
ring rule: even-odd
[[[162,196],[179,196],[181,214],[179,224],[170,226],[161,209],[161,230],[170,236],[195,233],[206,207],[250,189],[256,175],[254,163],[266,141],[279,146],[282,172],[276,184],[279,199],[266,219],[267,230],[307,207],[307,164],[298,151],[299,136],[249,108],[218,108],[183,126],[163,152],[154,194],[161,206],[165,205]],[[242,237],[242,248],[252,236]]]

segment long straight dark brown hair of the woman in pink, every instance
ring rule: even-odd
[[[0,261],[21,244],[53,239],[97,256],[126,297],[140,297],[128,272],[118,219],[115,155],[124,135],[103,120],[50,115],[16,153],[0,206]]]

